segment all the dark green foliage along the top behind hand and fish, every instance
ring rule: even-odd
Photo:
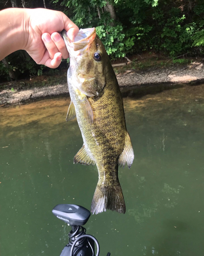
[[[10,2],[0,5],[7,8]],[[28,5],[38,7],[32,1]],[[185,53],[204,55],[203,0],[49,0],[46,5],[63,11],[80,28],[95,27],[112,59],[142,51],[162,52],[175,62],[183,61],[175,57]],[[24,51],[7,59],[9,69],[0,62],[1,79],[9,80],[10,70],[19,78],[50,70]]]

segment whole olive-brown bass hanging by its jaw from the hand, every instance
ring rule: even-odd
[[[66,120],[77,117],[84,141],[73,162],[97,166],[92,214],[107,209],[124,214],[118,166],[127,163],[130,168],[134,151],[116,75],[95,28],[80,29],[74,41],[65,30],[62,37],[70,60],[67,83],[71,102]]]

